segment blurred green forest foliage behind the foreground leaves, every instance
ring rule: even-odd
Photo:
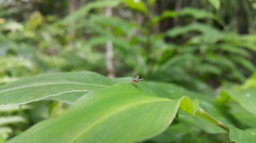
[[[68,10],[75,3],[79,7]],[[0,1],[0,84],[59,71],[107,75],[105,45],[111,41],[117,77],[139,74],[214,95],[214,88],[243,83],[255,73],[255,5],[253,0]],[[112,16],[106,16],[106,7],[112,8]],[[49,110],[47,117],[65,109],[62,103],[47,104],[49,109],[42,107]],[[253,118],[236,104],[230,107],[243,123]],[[187,128],[176,126],[171,128]],[[5,139],[12,129],[2,130]],[[198,140],[191,136],[193,129],[187,132],[177,132],[177,138]],[[153,140],[169,140],[162,138]]]

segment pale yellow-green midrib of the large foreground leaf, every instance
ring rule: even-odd
[[[106,115],[104,115],[102,117],[99,117],[98,120],[96,120],[93,124],[90,124],[90,126],[88,126],[86,130],[80,132],[80,134],[77,134],[77,136],[75,136],[75,138],[73,138],[73,140],[71,140],[70,142],[77,141],[86,132],[88,132],[89,130],[94,128],[96,125],[101,124],[102,122],[104,122],[104,120],[107,120],[108,118],[112,117],[113,115],[116,115],[117,113],[125,111],[126,109],[129,109],[131,107],[136,107],[136,106],[139,106],[139,105],[143,105],[143,104],[147,104],[147,103],[166,102],[166,101],[171,101],[171,100],[170,99],[150,99],[150,100],[147,100],[147,101],[138,101],[136,103],[134,103],[134,102],[133,103],[129,103],[127,105],[124,105],[123,107],[119,107],[117,110],[114,110],[112,112],[108,112]]]

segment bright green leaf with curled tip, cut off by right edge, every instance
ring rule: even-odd
[[[255,75],[247,79],[241,86],[235,86],[232,89],[222,89],[218,97],[218,103],[228,105],[229,113],[236,118],[238,122],[252,128],[256,127],[256,80]],[[234,102],[228,102],[232,99]]]

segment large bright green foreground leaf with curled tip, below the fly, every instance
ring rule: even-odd
[[[92,91],[67,111],[36,124],[9,142],[139,142],[160,134],[187,97],[156,97],[131,83]],[[189,107],[193,112],[193,107]]]

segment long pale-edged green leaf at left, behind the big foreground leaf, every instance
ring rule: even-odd
[[[92,72],[47,73],[1,86],[0,105],[21,105],[65,93],[87,93],[114,83]]]

